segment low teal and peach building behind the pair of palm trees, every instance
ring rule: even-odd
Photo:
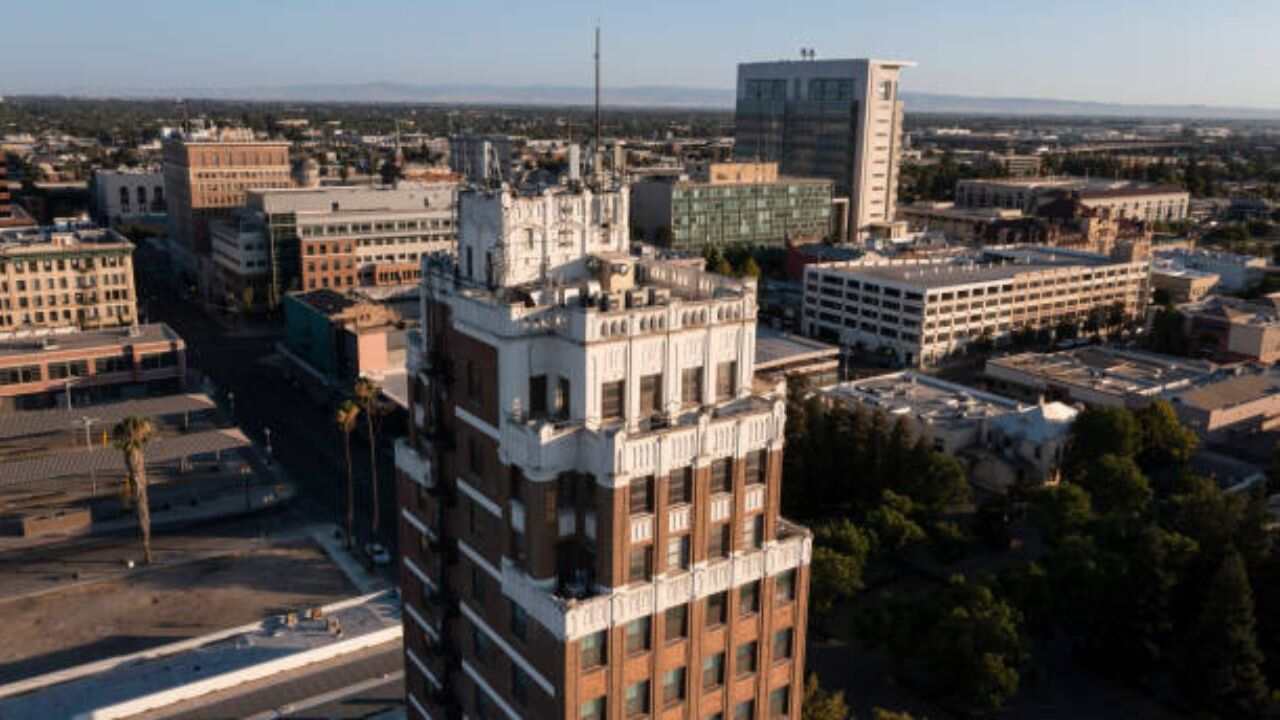
[[[284,299],[287,356],[325,387],[347,387],[361,375],[403,368],[401,316],[378,302],[333,290]]]

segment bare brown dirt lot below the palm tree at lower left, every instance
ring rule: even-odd
[[[356,594],[308,541],[0,602],[0,684]]]

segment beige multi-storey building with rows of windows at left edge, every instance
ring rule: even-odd
[[[0,232],[0,333],[136,322],[133,243],[115,231]]]

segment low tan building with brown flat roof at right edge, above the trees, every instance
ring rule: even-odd
[[[1280,427],[1280,370],[1265,366],[1234,368],[1213,382],[1172,397],[1184,425],[1208,442],[1231,433],[1272,430]]]

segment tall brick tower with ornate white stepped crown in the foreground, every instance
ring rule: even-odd
[[[754,281],[632,258],[626,210],[463,193],[463,266],[424,266],[396,451],[415,717],[800,715],[812,538],[778,515]]]

